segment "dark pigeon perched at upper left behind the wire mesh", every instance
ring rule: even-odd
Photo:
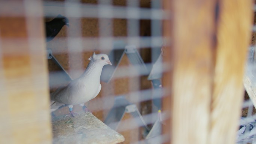
[[[64,25],[69,26],[68,18],[62,15],[58,15],[52,21],[45,22],[46,42],[54,39]]]

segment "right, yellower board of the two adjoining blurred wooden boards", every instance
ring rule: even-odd
[[[252,0],[219,0],[210,144],[234,144],[244,96],[243,76],[253,24]]]

